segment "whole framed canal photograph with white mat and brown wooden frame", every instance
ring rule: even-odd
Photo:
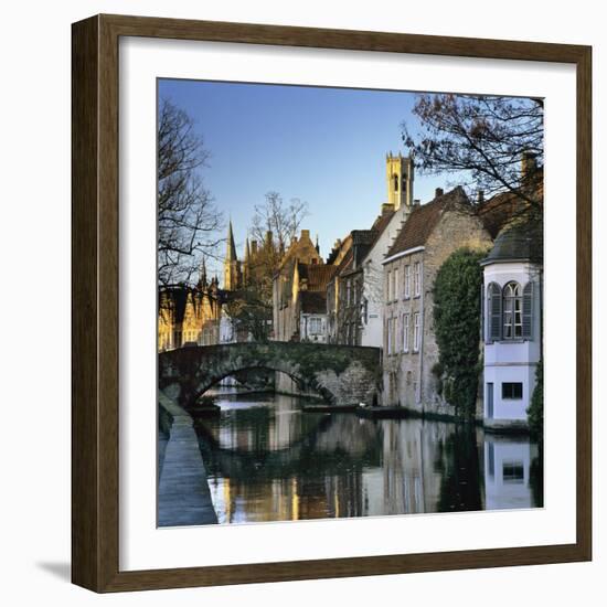
[[[73,25],[73,582],[587,561],[590,49]]]

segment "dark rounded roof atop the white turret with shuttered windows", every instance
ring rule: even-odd
[[[541,220],[526,220],[504,228],[497,237],[493,248],[481,265],[505,262],[542,263],[544,253]]]

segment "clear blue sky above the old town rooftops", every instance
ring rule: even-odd
[[[168,98],[195,121],[211,152],[205,187],[232,217],[238,256],[254,205],[277,191],[308,202],[302,227],[323,257],[351,230],[368,230],[386,201],[385,155],[405,153],[401,124],[414,124],[406,92],[161,79]],[[428,202],[444,178],[417,174]]]

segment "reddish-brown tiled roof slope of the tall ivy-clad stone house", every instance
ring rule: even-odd
[[[470,205],[468,196],[461,185],[458,185],[446,194],[436,196],[427,204],[415,206],[405,222],[405,225],[396,235],[394,243],[392,243],[387,252],[387,257],[392,257],[397,253],[408,251],[416,246],[425,245],[441,214],[457,204]]]

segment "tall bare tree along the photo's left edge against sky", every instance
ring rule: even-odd
[[[223,219],[200,171],[209,151],[194,121],[168,99],[158,116],[158,281],[191,283],[202,256],[216,257]]]

